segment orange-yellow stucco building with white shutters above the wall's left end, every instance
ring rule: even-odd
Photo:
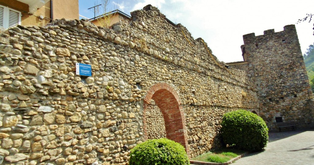
[[[0,0],[0,28],[78,19],[78,0]]]

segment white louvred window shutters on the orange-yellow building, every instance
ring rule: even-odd
[[[10,28],[21,24],[21,12],[0,5],[0,28]]]

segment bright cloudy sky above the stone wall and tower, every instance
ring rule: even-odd
[[[93,18],[89,9],[101,0],[78,0],[79,14]],[[207,42],[213,54],[224,62],[243,61],[240,46],[243,35],[263,35],[264,30],[283,31],[295,24],[302,54],[314,43],[313,20],[296,24],[306,14],[314,14],[314,0],[111,0],[108,11],[115,6],[130,15],[151,4],[174,23],[181,23],[192,34]],[[82,17],[80,17],[81,19]]]

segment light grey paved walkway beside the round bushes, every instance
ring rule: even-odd
[[[314,165],[314,129],[269,133],[265,151],[248,154],[231,165]]]

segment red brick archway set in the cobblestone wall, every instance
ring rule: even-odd
[[[187,143],[187,129],[185,125],[184,111],[176,91],[166,83],[157,83],[149,88],[143,102],[143,131],[144,140],[148,139],[146,124],[146,109],[153,99],[160,108],[166,128],[166,137],[180,143],[190,155],[190,147]]]

